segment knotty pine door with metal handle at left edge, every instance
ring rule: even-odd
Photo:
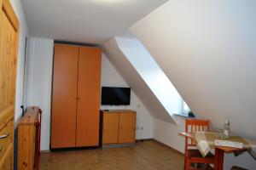
[[[10,170],[14,168],[15,86],[19,21],[9,0],[0,0],[0,8],[0,169]]]

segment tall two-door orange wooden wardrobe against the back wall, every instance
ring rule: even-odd
[[[51,149],[98,146],[101,48],[55,43]]]

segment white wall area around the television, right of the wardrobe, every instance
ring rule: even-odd
[[[129,87],[119,73],[114,69],[105,54],[102,54],[102,86],[106,87]],[[136,139],[153,138],[153,117],[143,105],[142,101],[131,89],[131,105],[108,106],[102,105],[101,109],[131,109],[137,111]],[[143,129],[142,129],[143,127]]]

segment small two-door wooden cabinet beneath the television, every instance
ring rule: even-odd
[[[135,143],[136,111],[101,111],[102,144]]]

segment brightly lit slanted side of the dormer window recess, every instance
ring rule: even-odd
[[[182,113],[183,99],[143,44],[137,39],[115,37],[115,40],[119,50],[169,115]]]

